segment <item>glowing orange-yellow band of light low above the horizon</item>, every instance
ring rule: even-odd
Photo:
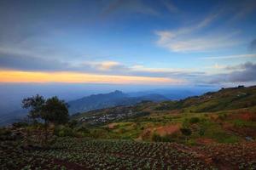
[[[0,71],[0,82],[179,84],[183,81],[167,77],[113,76],[68,71]]]

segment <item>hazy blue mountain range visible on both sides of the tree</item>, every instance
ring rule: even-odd
[[[69,105],[69,114],[73,115],[78,112],[93,111],[117,105],[135,105],[143,100],[164,101],[169,99],[160,94],[145,94],[143,96],[131,97],[130,94],[125,94],[116,90],[109,94],[92,94],[81,99],[74,99],[69,101],[67,104]],[[28,111],[24,109],[20,109],[6,114],[1,114],[0,126],[9,125],[23,119],[26,117],[27,112]]]

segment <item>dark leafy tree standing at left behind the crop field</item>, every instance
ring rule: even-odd
[[[28,116],[34,121],[44,121],[44,144],[48,141],[49,123],[63,124],[68,121],[67,104],[56,96],[45,100],[43,96],[37,94],[23,99],[22,107],[30,109]]]

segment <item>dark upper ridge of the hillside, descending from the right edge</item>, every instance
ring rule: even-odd
[[[157,110],[183,109],[189,112],[225,111],[256,105],[256,86],[245,88],[222,88],[201,96],[177,101],[162,102]]]

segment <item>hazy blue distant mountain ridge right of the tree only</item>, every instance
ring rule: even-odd
[[[168,100],[160,94],[147,94],[138,97],[130,97],[121,91],[114,91],[109,94],[93,94],[88,97],[68,102],[71,114],[84,111],[93,111],[117,105],[135,105],[143,100],[164,101]]]

